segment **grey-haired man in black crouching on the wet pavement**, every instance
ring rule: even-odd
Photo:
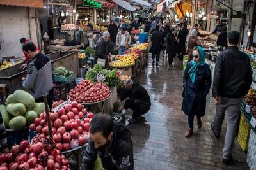
[[[127,94],[121,97],[121,101],[129,97],[125,101],[124,111],[130,108],[133,110],[133,115],[128,122],[135,124],[142,120],[141,115],[148,112],[151,106],[150,96],[147,90],[138,82],[133,82],[131,79],[125,80],[125,89],[128,90]]]

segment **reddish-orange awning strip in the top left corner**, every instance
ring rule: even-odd
[[[43,8],[43,0],[1,0],[0,5],[11,5],[11,6],[25,6],[25,7],[35,7]]]

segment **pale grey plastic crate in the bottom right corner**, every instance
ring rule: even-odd
[[[250,131],[247,163],[250,169],[256,169],[256,134],[252,129]]]

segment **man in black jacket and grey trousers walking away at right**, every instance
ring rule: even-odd
[[[216,103],[216,114],[211,127],[217,138],[220,138],[221,126],[227,111],[227,132],[223,148],[223,162],[232,161],[232,148],[236,137],[239,108],[243,96],[248,93],[252,83],[252,70],[248,55],[240,52],[239,32],[227,34],[227,50],[221,52],[216,60],[212,97]]]

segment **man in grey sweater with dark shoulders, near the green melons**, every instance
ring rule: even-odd
[[[25,43],[23,50],[28,54],[28,73],[23,81],[23,87],[31,90],[36,102],[43,102],[43,95],[49,92],[48,104],[51,108],[53,99],[53,81],[51,60],[44,54],[36,51],[32,42]]]

